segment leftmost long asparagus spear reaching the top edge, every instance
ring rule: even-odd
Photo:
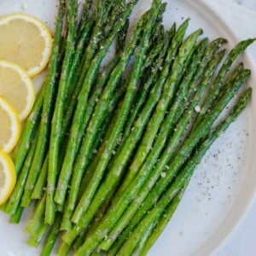
[[[22,207],[29,207],[31,204],[31,194],[32,189],[34,187],[34,183],[37,180],[38,173],[43,165],[44,155],[47,150],[47,143],[49,138],[49,125],[50,119],[52,116],[52,110],[54,105],[54,94],[56,87],[56,75],[57,75],[57,67],[59,61],[59,54],[61,49],[61,33],[63,26],[63,17],[64,17],[64,6],[65,1],[60,0],[59,13],[56,21],[55,28],[55,41],[53,45],[53,53],[49,60],[49,73],[46,78],[46,82],[44,84],[45,93],[44,93],[44,103],[43,103],[43,111],[42,111],[42,119],[39,125],[38,130],[38,143],[36,147],[36,151],[34,154],[34,158],[32,160],[31,172],[26,180],[25,192],[21,201]]]

